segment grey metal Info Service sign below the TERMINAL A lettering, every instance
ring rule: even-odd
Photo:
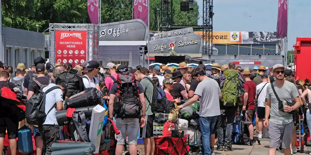
[[[202,38],[197,34],[185,34],[150,41],[151,53],[170,53],[172,47],[177,54],[199,53],[202,45]]]

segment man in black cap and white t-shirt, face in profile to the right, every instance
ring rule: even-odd
[[[98,80],[97,78],[94,77],[95,75],[98,74],[100,70],[99,66],[100,66],[99,62],[95,60],[91,60],[87,64],[85,64],[84,70],[87,71],[87,73],[82,76],[85,88],[96,88],[100,90]]]

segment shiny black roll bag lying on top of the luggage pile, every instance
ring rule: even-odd
[[[72,95],[68,100],[69,108],[80,108],[92,105],[103,105],[102,94],[96,88],[87,88],[76,95]]]

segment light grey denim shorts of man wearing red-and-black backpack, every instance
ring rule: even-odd
[[[128,136],[128,144],[137,145],[137,137],[140,128],[139,118],[116,118],[115,124],[121,132],[119,135],[115,135],[117,145],[125,144],[124,140],[126,139],[126,135]]]

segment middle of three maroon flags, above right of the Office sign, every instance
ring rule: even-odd
[[[148,0],[134,0],[133,18],[143,20],[148,26]]]

